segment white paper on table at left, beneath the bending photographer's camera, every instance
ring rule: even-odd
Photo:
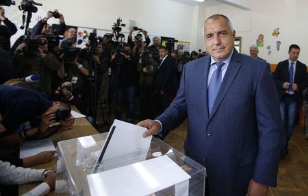
[[[29,156],[34,156],[42,151],[55,151],[55,146],[51,138],[45,138],[42,140],[33,140],[25,143],[21,143],[21,150],[19,158],[26,158]]]

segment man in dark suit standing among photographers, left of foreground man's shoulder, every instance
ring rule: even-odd
[[[164,112],[170,105],[169,95],[176,82],[175,79],[175,61],[168,56],[166,47],[159,47],[159,65],[154,77],[154,90],[157,95],[158,110]]]

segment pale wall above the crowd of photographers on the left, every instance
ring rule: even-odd
[[[16,5],[20,5],[20,2],[20,0],[17,0]],[[123,23],[127,25],[123,28],[123,32],[129,32],[130,21],[134,21],[135,25],[146,29],[151,35],[169,36],[175,37],[177,40],[191,41],[195,34],[193,21],[197,19],[196,6],[175,1],[37,0],[37,2],[43,4],[42,8],[38,7],[40,13],[54,9],[63,13],[67,25],[111,29],[112,24],[120,16]],[[21,11],[17,10],[16,5],[5,7],[5,12],[10,10],[8,12],[10,15],[6,14],[8,18],[14,17],[18,23],[21,23]],[[35,25],[36,20],[39,19],[38,15],[45,16],[45,14],[34,14],[30,27]],[[191,47],[194,47],[194,43]]]

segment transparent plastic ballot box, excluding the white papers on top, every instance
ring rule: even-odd
[[[85,136],[60,141],[57,144],[57,178],[55,195],[91,195],[88,175],[101,173],[110,169],[124,167],[144,160],[151,160],[157,156],[168,156],[183,171],[190,175],[188,195],[204,195],[205,167],[198,164],[188,156],[170,147],[162,140],[153,137],[149,149],[138,150],[98,163],[107,133]],[[176,166],[176,165],[175,165]],[[157,165],[159,167],[159,165]],[[176,194],[176,185],[157,191],[153,195],[179,195]],[[131,193],[131,195],[134,195]]]

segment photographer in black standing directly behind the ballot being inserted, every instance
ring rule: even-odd
[[[123,101],[128,101],[127,121],[132,123],[135,113],[135,95],[137,84],[137,64],[136,56],[133,56],[131,45],[125,44],[123,49],[118,49],[112,55],[112,66],[115,74],[112,75],[111,86],[116,89],[116,119],[122,119]],[[118,76],[118,86],[115,86],[116,76]]]

